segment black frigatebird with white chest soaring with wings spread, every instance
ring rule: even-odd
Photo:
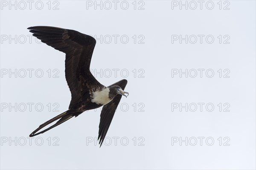
[[[28,29],[41,42],[66,54],[65,77],[71,92],[68,110],[43,123],[29,136],[44,133],[74,116],[79,116],[84,111],[103,106],[98,136],[101,146],[122,96],[129,95],[128,92],[123,91],[127,80],[122,79],[106,87],[93,77],[90,72],[90,61],[96,45],[93,37],[75,30],[50,26],[33,26]],[[54,125],[38,132],[55,121],[57,122]]]

